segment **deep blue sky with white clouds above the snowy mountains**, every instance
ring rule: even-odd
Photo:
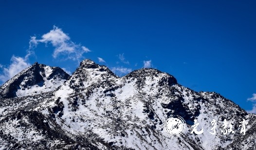
[[[0,82],[35,61],[152,67],[256,112],[255,0],[1,0]],[[254,95],[253,95],[254,94]]]

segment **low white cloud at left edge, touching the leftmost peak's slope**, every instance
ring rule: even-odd
[[[27,58],[29,57],[30,53],[28,53],[25,58],[12,56],[11,64],[8,67],[2,66],[2,74],[0,75],[0,81],[2,83],[6,82],[10,78],[17,75],[23,69],[29,67],[31,64],[28,63]]]

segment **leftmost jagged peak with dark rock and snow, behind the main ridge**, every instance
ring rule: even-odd
[[[22,97],[55,90],[70,75],[59,67],[35,62],[0,87],[0,96]]]

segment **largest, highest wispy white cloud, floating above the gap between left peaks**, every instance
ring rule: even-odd
[[[85,46],[73,43],[71,38],[56,26],[54,26],[53,30],[43,34],[41,39],[32,36],[29,42],[30,49],[36,48],[39,43],[52,44],[55,47],[53,52],[54,58],[64,55],[67,57],[66,59],[80,61],[84,53],[91,51]]]

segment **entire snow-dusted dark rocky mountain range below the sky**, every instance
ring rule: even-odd
[[[256,149],[255,114],[218,93],[185,88],[167,73],[143,68],[118,77],[91,60],[83,60],[70,77],[59,68],[47,68],[35,63],[1,86],[2,149]],[[19,92],[40,85],[47,90]],[[165,134],[170,115],[186,121],[184,135]],[[190,134],[195,119],[197,129],[204,130],[201,135]],[[216,135],[207,132],[213,119]],[[221,133],[224,119],[232,122],[235,133]],[[245,135],[239,127],[243,119],[249,120]]]

